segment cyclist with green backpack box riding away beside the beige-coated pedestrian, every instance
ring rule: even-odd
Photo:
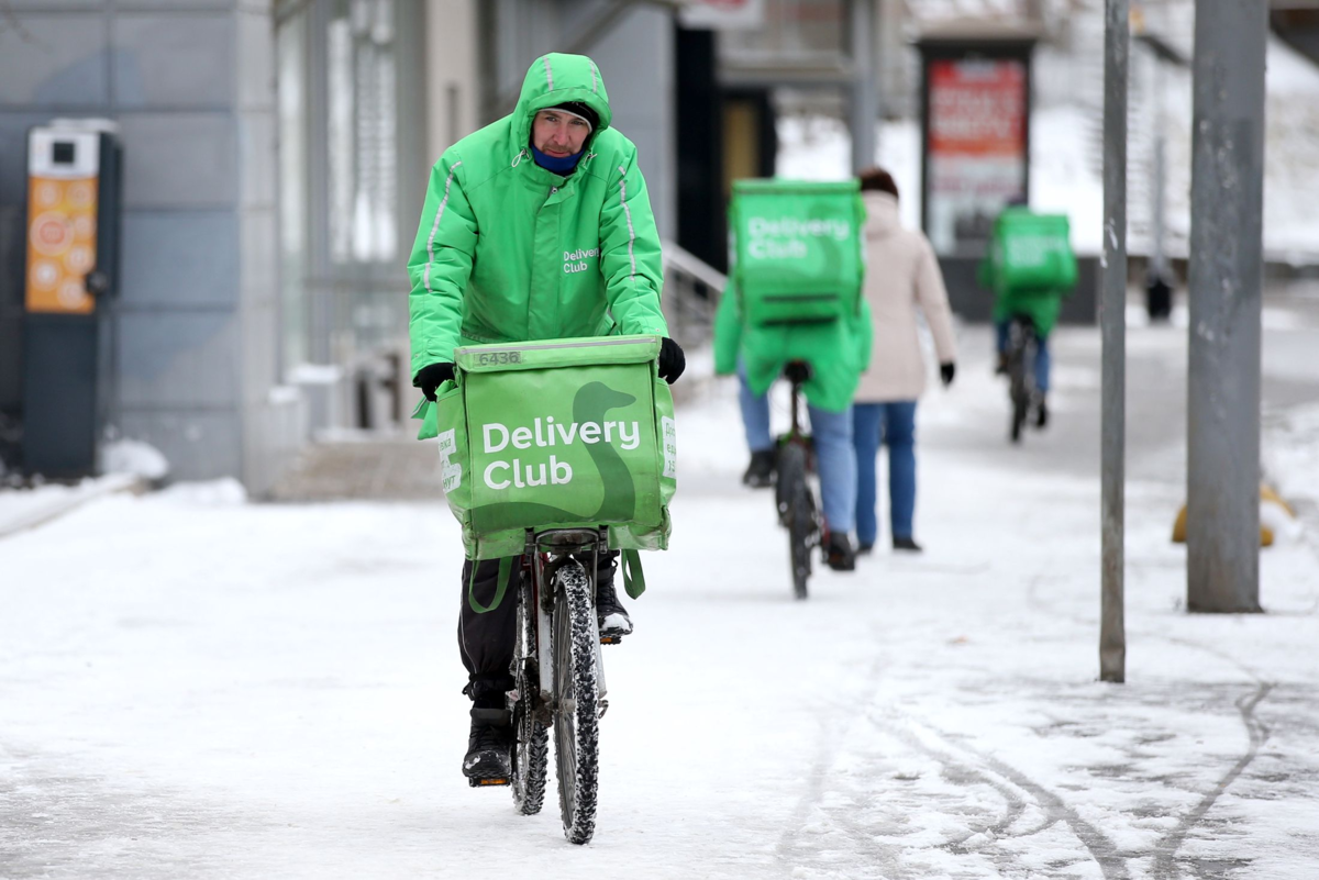
[[[740,377],[751,465],[743,481],[768,486],[776,444],[769,386],[809,365],[802,385],[824,509],[826,564],[856,568],[856,451],[852,397],[871,360],[861,207],[856,180],[737,180],[729,207],[733,265],[715,316],[715,373]]]

